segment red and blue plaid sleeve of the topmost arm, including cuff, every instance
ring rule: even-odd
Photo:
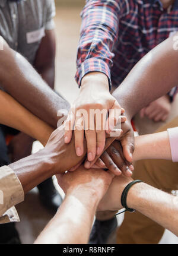
[[[119,30],[119,17],[126,1],[87,0],[81,13],[81,37],[77,55],[78,85],[89,72],[103,72],[110,80],[113,65],[113,47]]]

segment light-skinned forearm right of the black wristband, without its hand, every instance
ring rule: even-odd
[[[127,204],[178,236],[178,197],[139,183],[129,190]]]

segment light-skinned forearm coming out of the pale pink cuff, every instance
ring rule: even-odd
[[[171,149],[167,131],[142,135],[135,138],[134,161],[141,159],[171,160]]]

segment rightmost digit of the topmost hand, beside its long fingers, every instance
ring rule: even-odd
[[[114,129],[121,128],[121,111],[122,110],[120,108],[119,103],[115,101],[115,104],[112,106],[112,109],[109,110],[109,117],[106,121],[106,132],[108,134],[112,132]]]

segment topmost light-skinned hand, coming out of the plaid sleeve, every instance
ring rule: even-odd
[[[104,149],[106,141],[106,132],[109,133],[115,128],[113,124],[117,124],[114,113],[106,116],[101,116],[101,122],[97,123],[97,116],[90,110],[105,110],[106,114],[109,110],[118,109],[120,113],[123,110],[119,103],[110,94],[109,81],[105,74],[101,72],[91,72],[85,75],[81,81],[81,89],[78,98],[74,102],[75,110],[71,109],[65,125],[65,143],[69,143],[72,138],[72,128],[74,127],[75,134],[75,150],[77,156],[82,156],[84,153],[84,135],[87,140],[87,158],[88,161],[93,161],[96,156],[99,156]],[[78,125],[78,119],[81,116],[77,115],[80,110],[85,110],[87,115],[83,115],[84,128]],[[113,119],[114,122],[113,122]]]

